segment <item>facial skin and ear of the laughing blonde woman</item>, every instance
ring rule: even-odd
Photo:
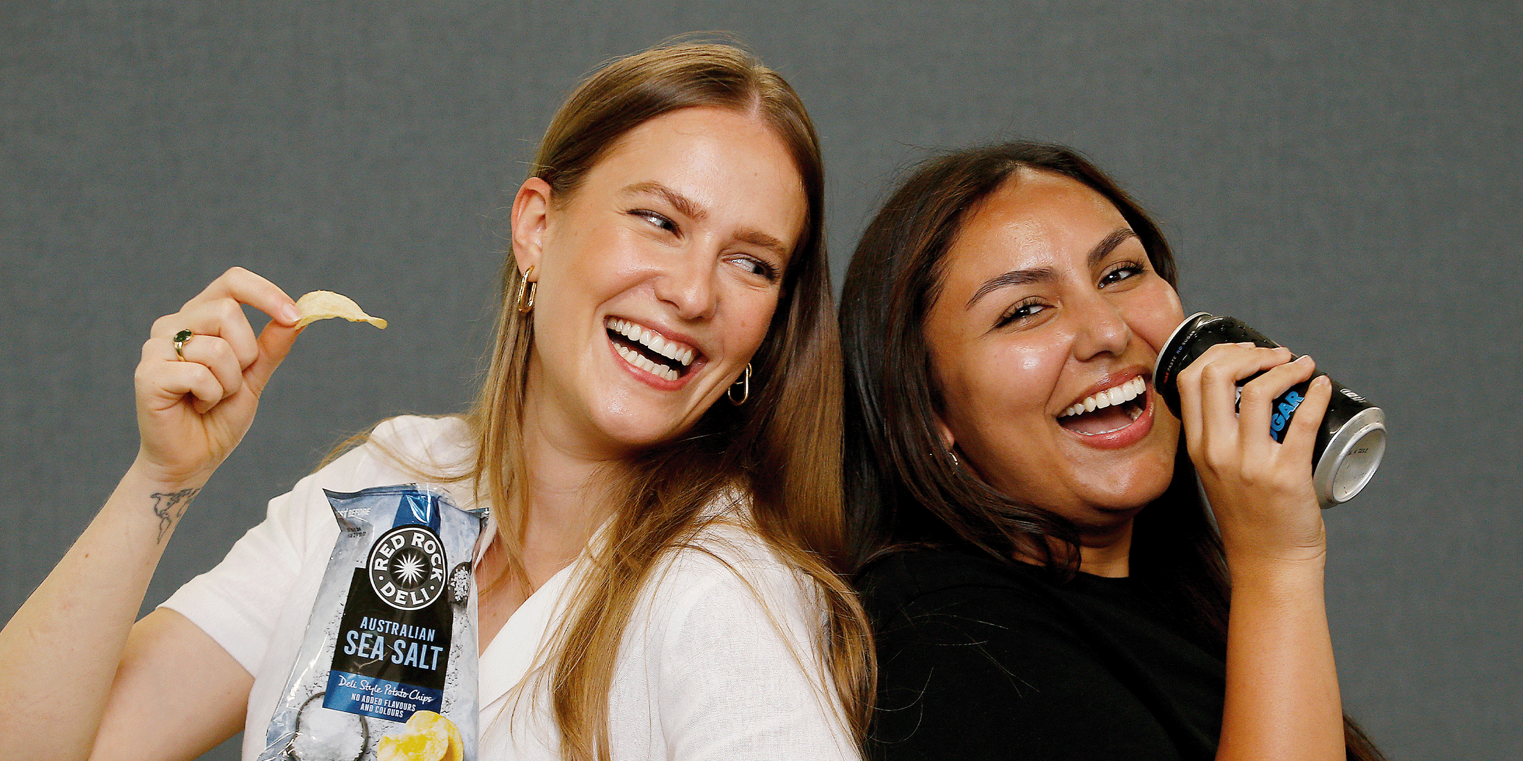
[[[766,338],[804,228],[795,166],[765,123],[687,108],[627,132],[570,198],[548,204],[532,239],[521,240],[515,222],[519,269],[533,265],[538,282],[525,409],[554,432],[548,440],[615,460],[675,438],[719,400]],[[670,189],[699,213],[631,192],[641,184]],[[701,353],[690,377],[676,390],[643,382],[612,352],[608,317],[690,336]]]

